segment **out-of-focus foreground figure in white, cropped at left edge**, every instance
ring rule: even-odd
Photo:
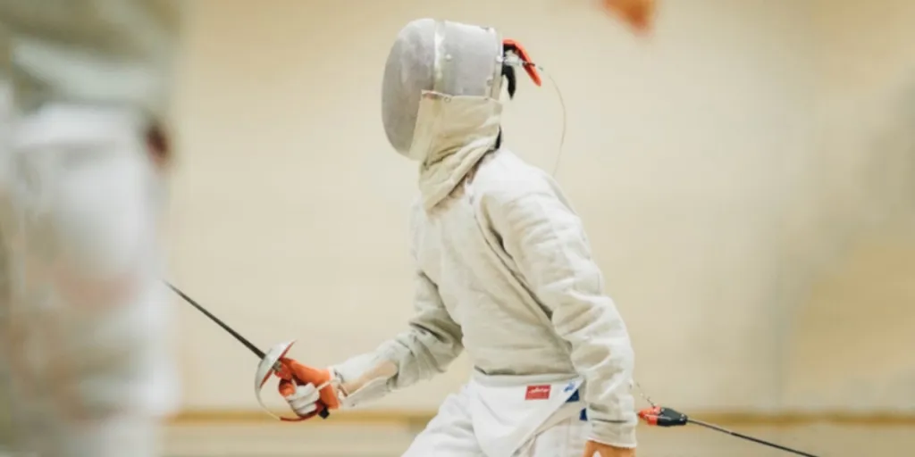
[[[177,400],[157,222],[178,1],[0,0],[14,456],[146,457]],[[3,454],[0,451],[0,454]]]

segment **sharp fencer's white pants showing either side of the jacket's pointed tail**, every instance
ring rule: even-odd
[[[468,409],[467,389],[450,395],[402,457],[487,456],[479,448]],[[587,421],[569,418],[541,430],[511,457],[581,457],[587,441]]]

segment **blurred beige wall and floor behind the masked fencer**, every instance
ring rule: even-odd
[[[594,0],[192,5],[173,279],[257,344],[322,366],[404,328],[416,170],[382,131],[384,60],[414,18],[490,25],[562,91],[557,177],[651,397],[813,453],[913,452],[915,3],[668,1],[647,38]],[[503,128],[552,169],[555,90],[521,79]],[[399,455],[471,370],[276,423],[257,360],[176,305],[175,456]],[[780,455],[688,429],[641,431],[640,455]]]

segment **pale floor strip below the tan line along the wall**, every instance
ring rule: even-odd
[[[915,428],[903,426],[742,428],[758,438],[818,457],[915,455]],[[181,425],[168,434],[169,457],[396,457],[414,430],[333,424]],[[639,457],[791,456],[726,434],[690,426],[640,430]],[[434,457],[434,456],[430,456]],[[565,456],[556,456],[565,457]],[[577,456],[574,456],[577,457]]]

